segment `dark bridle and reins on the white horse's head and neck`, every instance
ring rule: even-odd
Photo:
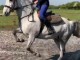
[[[28,1],[29,1],[29,0],[28,0]],[[30,1],[29,1],[29,2],[30,2]],[[16,0],[13,1],[13,4],[15,4],[15,3],[17,3]],[[18,5],[18,3],[17,3],[17,5]],[[28,17],[28,18],[29,18],[30,15],[33,15],[33,13],[34,13],[33,2],[30,2],[30,4],[24,5],[24,6],[21,6],[21,7],[19,7],[19,5],[18,5],[17,7],[15,7],[15,5],[14,5],[13,7],[10,7],[10,6],[8,6],[8,5],[4,5],[4,7],[9,8],[11,12],[14,11],[14,10],[18,10],[18,9],[25,8],[25,7],[29,8],[28,6],[31,6],[31,7],[32,7],[32,11],[30,12],[30,14],[28,14],[28,15],[20,18],[20,19],[23,19],[23,18],[25,18],[25,17]],[[34,18],[34,17],[32,17],[32,18]],[[29,19],[28,19],[28,21],[29,21]],[[34,21],[34,20],[33,20],[33,21]],[[33,22],[33,21],[30,21],[30,22]]]

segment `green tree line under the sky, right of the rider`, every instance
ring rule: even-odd
[[[59,6],[50,5],[49,9],[80,9],[80,2],[74,1]]]

